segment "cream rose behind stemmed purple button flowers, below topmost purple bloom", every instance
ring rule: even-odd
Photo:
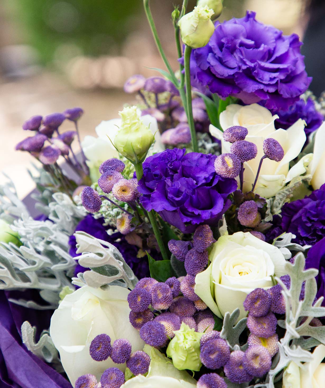
[[[244,192],[252,190],[259,162],[264,155],[263,140],[271,137],[282,145],[284,157],[280,162],[264,159],[262,163],[254,192],[264,198],[273,197],[287,182],[294,178],[292,174],[288,177],[289,163],[299,155],[306,142],[304,121],[299,119],[287,130],[276,130],[274,126],[276,118],[278,116],[272,116],[268,109],[258,104],[246,106],[231,104],[220,114],[220,125],[223,130],[233,125],[244,126],[248,129],[245,140],[257,145],[256,158],[244,163]],[[231,143],[223,140],[222,131],[210,125],[210,132],[221,140],[222,153],[230,152]]]

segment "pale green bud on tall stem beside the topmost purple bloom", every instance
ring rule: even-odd
[[[207,5],[198,5],[192,12],[181,17],[178,26],[181,29],[182,41],[193,49],[205,46],[214,32],[214,24],[211,21],[213,14],[214,10],[209,9]]]

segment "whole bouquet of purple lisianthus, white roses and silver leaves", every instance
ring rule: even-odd
[[[166,69],[97,137],[81,108],[23,124],[39,215],[0,187],[3,387],[323,386],[323,102],[297,35],[186,5],[175,72],[144,0]]]

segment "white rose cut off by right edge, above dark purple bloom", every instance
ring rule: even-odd
[[[311,185],[319,189],[325,183],[325,121],[315,134],[314,156],[310,164],[310,173],[313,175]]]

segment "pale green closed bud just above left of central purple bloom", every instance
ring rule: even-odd
[[[153,134],[148,126],[144,125],[137,107],[126,107],[118,113],[122,119],[114,145],[118,152],[129,159],[132,163],[141,163],[153,143]]]

